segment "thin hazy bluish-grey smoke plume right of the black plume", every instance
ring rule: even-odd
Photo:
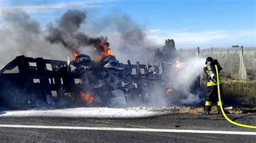
[[[156,63],[153,57],[157,44],[147,37],[145,26],[139,25],[120,11],[93,17],[86,30],[92,34],[107,33],[110,47],[120,62],[125,63],[129,59],[132,63]]]

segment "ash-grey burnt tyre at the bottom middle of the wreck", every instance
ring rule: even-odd
[[[110,91],[111,96],[107,101],[107,107],[109,108],[125,108],[126,99],[124,92],[122,90],[112,90]]]

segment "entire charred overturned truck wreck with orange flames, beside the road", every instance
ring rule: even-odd
[[[184,93],[172,87],[184,63],[119,63],[109,45],[107,41],[94,45],[95,60],[77,51],[71,51],[73,60],[68,57],[66,61],[17,56],[0,70],[0,106],[125,108],[150,106],[150,100],[158,100],[160,95],[170,104],[183,98]],[[174,57],[175,51],[165,52]],[[199,94],[200,76],[184,86],[189,93]]]

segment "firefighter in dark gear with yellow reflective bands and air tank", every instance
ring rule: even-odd
[[[208,57],[205,62],[204,71],[207,77],[207,88],[206,88],[206,98],[205,98],[205,108],[203,114],[209,115],[212,107],[212,102],[215,99],[218,101],[218,85],[217,85],[217,74],[215,70],[215,65],[217,65],[218,70],[222,70],[219,65],[218,60],[213,60],[211,57]],[[220,83],[220,95],[221,94],[221,85],[223,82],[219,80]],[[220,105],[223,105],[222,102],[217,102],[218,113],[221,113]]]

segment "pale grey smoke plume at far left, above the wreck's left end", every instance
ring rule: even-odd
[[[44,38],[38,22],[22,10],[2,12],[4,23],[0,27],[0,67],[18,55],[66,59],[69,51],[61,45],[52,45]]]

